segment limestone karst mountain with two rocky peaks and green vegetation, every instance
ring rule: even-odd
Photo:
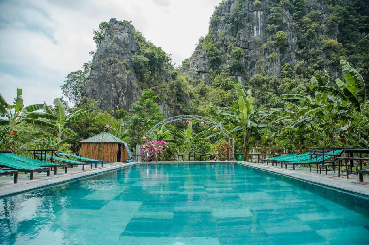
[[[280,94],[306,91],[324,69],[338,77],[341,58],[368,77],[368,10],[369,1],[358,0],[224,0],[177,68],[130,22],[111,19],[84,95],[100,109],[128,110],[151,88],[166,116],[207,114],[229,105],[240,83],[253,90],[255,105],[278,107]]]

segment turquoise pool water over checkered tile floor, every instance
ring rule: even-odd
[[[0,199],[0,244],[367,244],[368,207],[241,164],[140,164]]]

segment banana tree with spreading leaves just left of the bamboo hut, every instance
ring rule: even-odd
[[[73,114],[71,114],[68,117],[65,111],[65,106],[63,105],[63,103],[61,102],[59,98],[54,99],[55,112],[45,102],[44,104],[45,104],[45,113],[40,113],[38,117],[25,118],[24,120],[29,123],[55,129],[56,130],[56,140],[55,140],[55,143],[51,144],[54,147],[61,146],[72,140],[70,138],[62,139],[63,134],[72,135],[72,136],[77,135],[72,129],[66,127],[68,123],[76,121],[79,118],[82,118],[88,113],[91,113],[93,111],[93,109],[90,109],[87,111],[83,111],[83,109],[80,109],[80,110],[75,111]]]

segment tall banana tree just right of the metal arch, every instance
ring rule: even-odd
[[[251,90],[247,91],[247,95],[237,85],[236,90],[238,101],[232,107],[222,107],[216,112],[222,120],[219,123],[223,124],[231,134],[236,133],[237,138],[242,139],[243,160],[248,161],[249,151],[256,138],[261,136],[261,130],[270,128],[270,126],[257,122],[260,114],[252,106]]]

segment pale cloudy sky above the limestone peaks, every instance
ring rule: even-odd
[[[92,60],[101,21],[132,21],[146,40],[189,58],[220,0],[0,0],[0,93],[8,103],[52,104],[71,71]]]

